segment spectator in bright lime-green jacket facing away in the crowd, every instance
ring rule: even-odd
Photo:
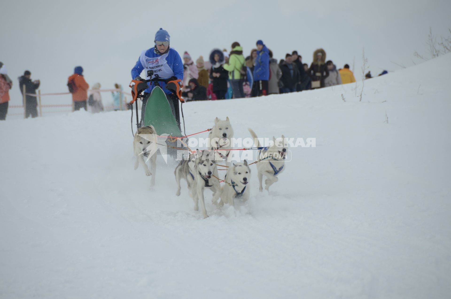
[[[239,42],[234,42],[230,52],[229,63],[224,64],[223,67],[229,71],[229,79],[235,98],[244,98],[243,82],[241,80],[241,68],[244,62],[243,48],[239,45]]]

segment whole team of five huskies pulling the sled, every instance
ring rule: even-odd
[[[210,189],[213,192],[212,203],[218,206],[229,204],[235,205],[235,198],[247,201],[250,196],[250,190],[247,185],[251,177],[251,169],[247,160],[239,163],[230,163],[224,178],[225,184],[221,187],[216,163],[227,159],[230,153],[230,142],[225,142],[233,137],[233,128],[229,117],[221,120],[216,117],[215,125],[209,132],[209,140],[216,141],[209,150],[197,150],[195,154],[190,154],[190,159],[182,159],[175,168],[175,181],[177,182],[177,196],[180,195],[180,181],[184,179],[188,185],[189,196],[194,201],[194,210],[199,210],[199,202],[202,209],[203,218],[207,218],[207,209],[205,208],[204,191]],[[257,176],[259,181],[259,190],[263,191],[262,180],[265,179],[265,189],[279,180],[278,176],[285,170],[285,158],[288,145],[285,137],[282,135],[282,142],[276,142],[273,137],[273,143],[269,147],[262,147],[257,135],[249,129],[254,143],[258,146],[259,154],[257,164]],[[145,136],[145,137],[143,137]],[[224,140],[224,142],[221,142]],[[133,149],[135,155],[135,170],[141,164],[147,176],[152,175],[151,185],[155,185],[156,173],[156,152],[151,153],[149,145],[156,145],[156,131],[153,126],[144,126],[138,129],[133,140]],[[222,146],[221,144],[225,144]],[[151,157],[149,158],[149,155]],[[146,160],[150,159],[151,170],[147,167]],[[219,203],[218,203],[219,200]]]

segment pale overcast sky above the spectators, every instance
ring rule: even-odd
[[[437,36],[451,28],[450,0],[5,0],[1,12],[0,61],[16,84],[13,99],[24,70],[41,79],[43,93],[61,92],[76,65],[90,85],[118,82],[127,90],[131,68],[160,27],[193,60],[235,41],[247,56],[262,39],[277,59],[297,50],[310,64],[318,47],[338,68],[352,67],[355,57],[356,73],[365,48],[373,75],[399,69],[391,61],[420,62],[413,53],[428,54],[429,27]]]

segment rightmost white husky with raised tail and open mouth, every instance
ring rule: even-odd
[[[251,133],[255,144],[258,147],[261,147],[260,141],[258,141],[258,137],[252,129],[248,129]],[[279,178],[279,174],[281,174],[285,170],[285,158],[288,149],[287,140],[285,140],[285,136],[282,135],[282,140],[272,137],[274,143],[270,147],[265,147],[260,149],[257,158],[261,160],[257,163],[257,171],[258,171],[258,182],[260,184],[259,189],[260,192],[263,191],[262,187],[262,179],[265,176],[267,179],[265,180],[265,189],[269,191],[269,187],[277,182]]]

